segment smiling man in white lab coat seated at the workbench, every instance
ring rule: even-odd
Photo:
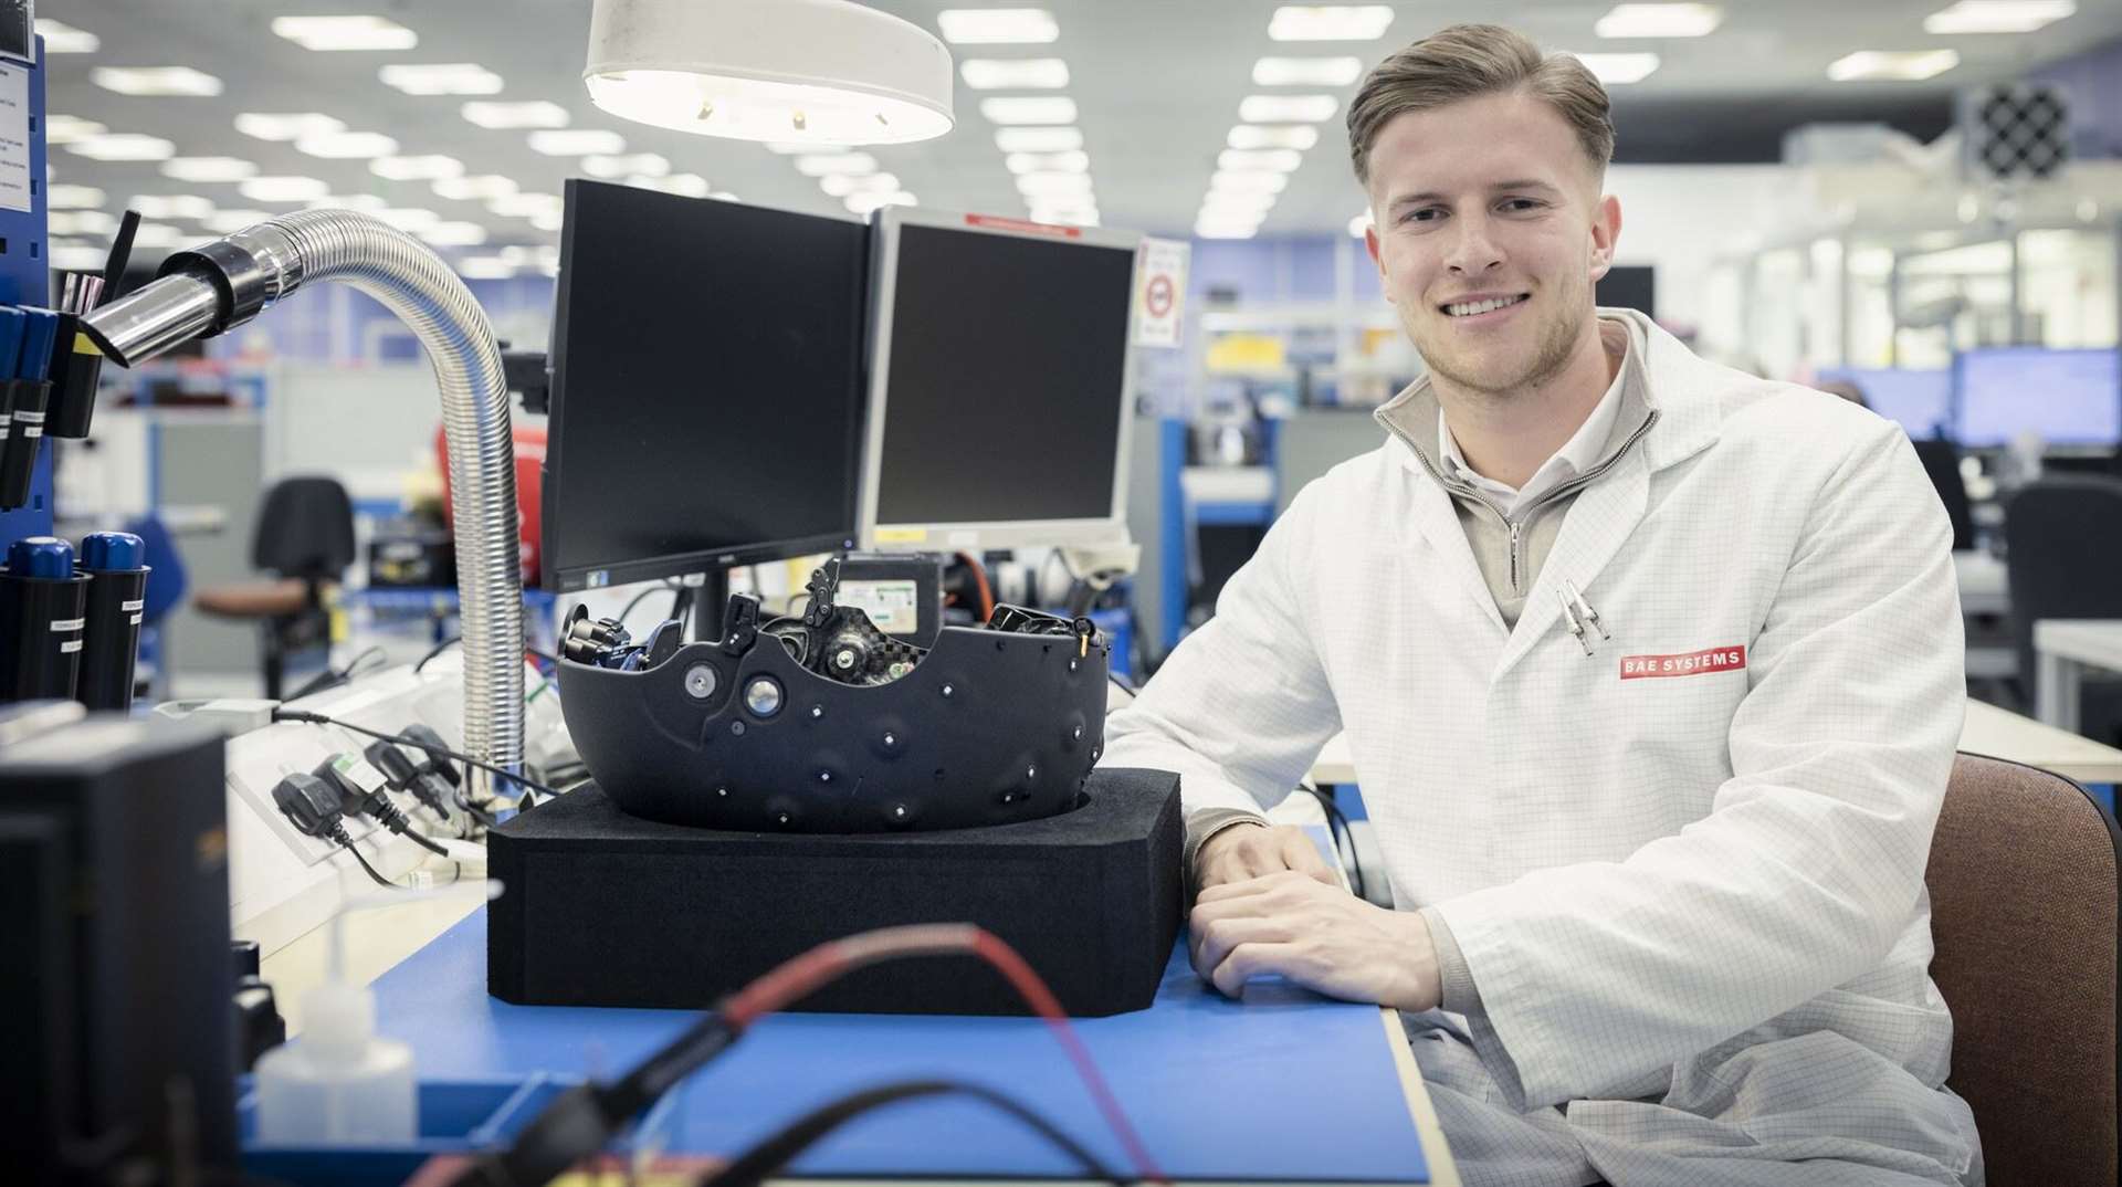
[[[1468,1183],[1978,1183],[1923,885],[1961,620],[1906,437],[1594,308],[1572,57],[1451,28],[1347,127],[1430,374],[1108,726],[1182,775],[1195,968],[1398,1007]],[[1335,733],[1398,911],[1260,815]]]

